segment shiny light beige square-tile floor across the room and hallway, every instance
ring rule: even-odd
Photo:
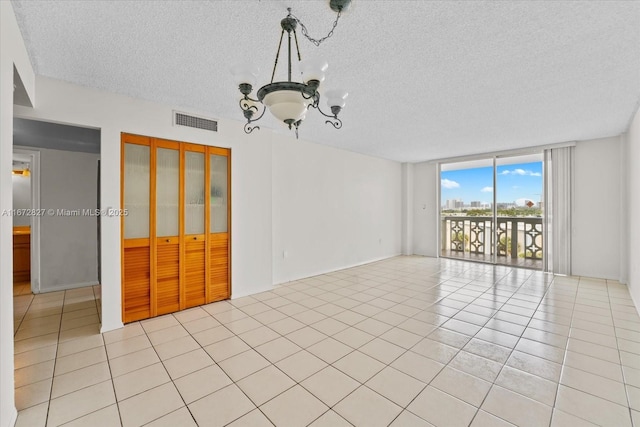
[[[15,297],[18,426],[640,426],[616,282],[397,257],[100,335]]]

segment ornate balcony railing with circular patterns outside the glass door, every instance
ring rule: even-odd
[[[443,216],[442,256],[492,261],[497,238],[499,264],[542,268],[543,230],[541,217]],[[497,234],[497,236],[496,236]]]

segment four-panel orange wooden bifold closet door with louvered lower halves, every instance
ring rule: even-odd
[[[230,154],[122,134],[125,323],[230,297]]]

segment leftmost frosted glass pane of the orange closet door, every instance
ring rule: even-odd
[[[146,145],[124,144],[124,238],[149,237],[150,151]]]

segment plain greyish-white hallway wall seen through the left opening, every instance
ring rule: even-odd
[[[55,211],[40,219],[40,292],[94,285],[98,281],[98,218],[59,211],[98,207],[100,156],[33,150],[40,152],[40,208]]]

